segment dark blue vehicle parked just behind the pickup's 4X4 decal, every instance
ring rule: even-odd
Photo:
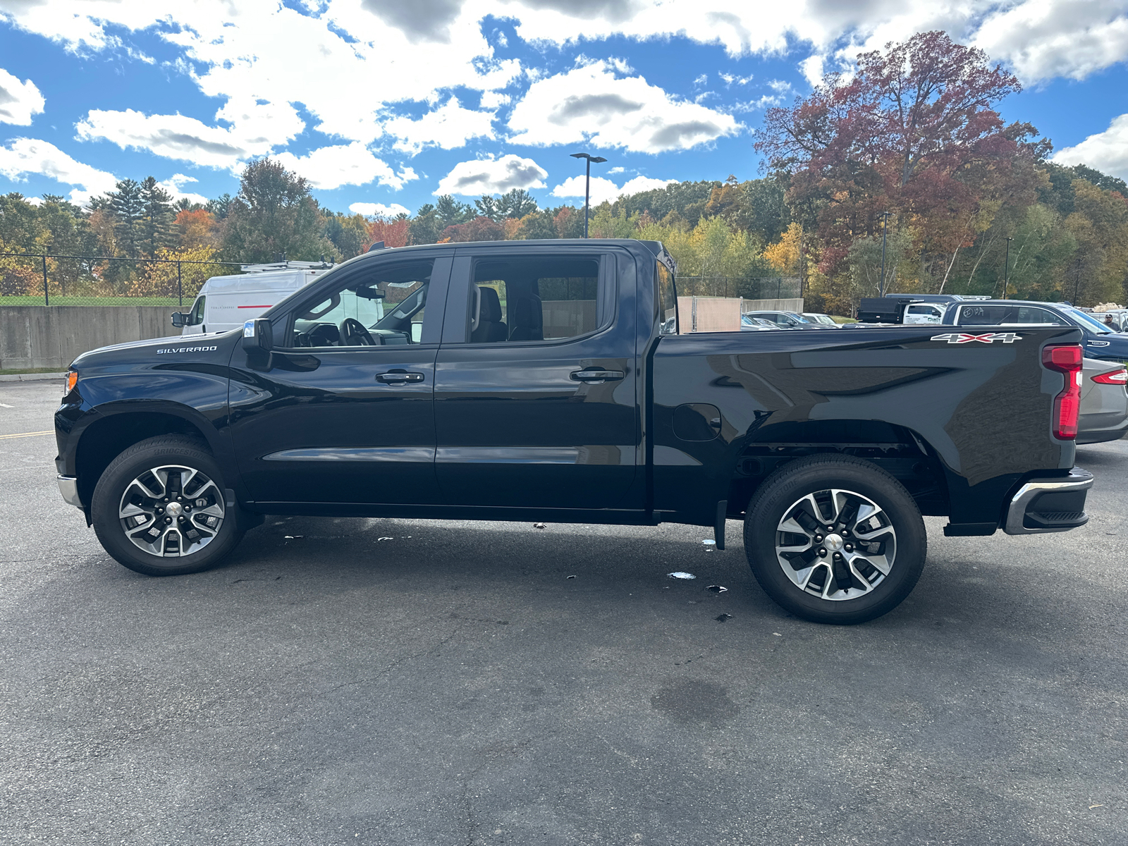
[[[1075,326],[1082,332],[1086,359],[1128,361],[1128,335],[1113,332],[1095,316],[1063,302],[982,300],[953,302],[944,323],[954,326]]]

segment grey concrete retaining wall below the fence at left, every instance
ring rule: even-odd
[[[179,335],[168,306],[0,306],[0,370],[59,368],[87,350]]]

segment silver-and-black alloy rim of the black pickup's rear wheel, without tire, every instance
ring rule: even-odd
[[[878,504],[853,491],[816,491],[776,527],[776,559],[800,590],[834,601],[865,596],[889,575],[897,532]]]

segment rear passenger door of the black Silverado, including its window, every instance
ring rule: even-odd
[[[458,252],[435,364],[447,502],[643,508],[634,291],[618,288],[633,262],[579,245]]]

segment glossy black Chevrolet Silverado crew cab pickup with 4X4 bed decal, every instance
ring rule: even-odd
[[[656,241],[359,256],[243,331],[80,355],[63,499],[153,575],[264,514],[713,527],[808,619],[896,607],[948,535],[1086,521],[1079,332],[679,334]]]

